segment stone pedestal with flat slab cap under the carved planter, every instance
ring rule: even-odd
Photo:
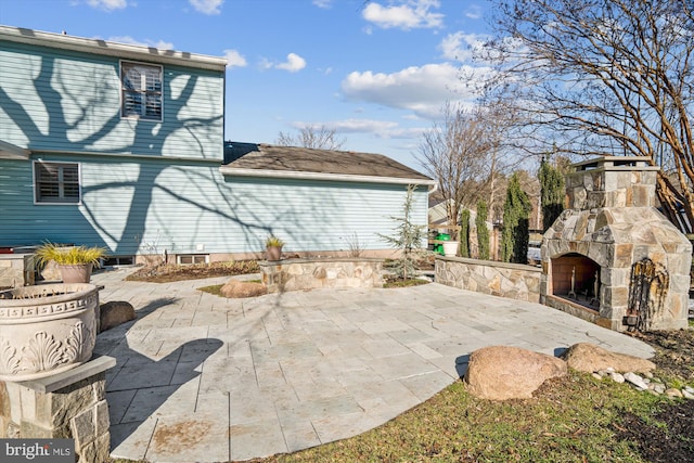
[[[75,439],[77,462],[108,461],[105,375],[115,364],[102,356],[40,380],[0,382],[0,437]]]

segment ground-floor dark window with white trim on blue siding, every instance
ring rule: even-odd
[[[36,203],[79,204],[79,164],[34,162]]]

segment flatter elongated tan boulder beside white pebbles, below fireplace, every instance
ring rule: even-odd
[[[645,373],[655,370],[655,363],[640,357],[626,353],[611,352],[602,347],[589,343],[575,344],[568,348],[562,358],[570,369],[586,373],[613,369],[614,371]]]

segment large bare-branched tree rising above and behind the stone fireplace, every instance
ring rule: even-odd
[[[547,152],[647,156],[657,193],[694,223],[691,0],[494,0],[486,98],[515,106],[513,139]],[[684,211],[686,220],[676,220]]]

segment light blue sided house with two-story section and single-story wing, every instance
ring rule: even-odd
[[[0,26],[0,248],[44,241],[200,262],[390,253],[408,184],[385,156],[224,143],[226,60]],[[231,111],[243,111],[229,102]]]

